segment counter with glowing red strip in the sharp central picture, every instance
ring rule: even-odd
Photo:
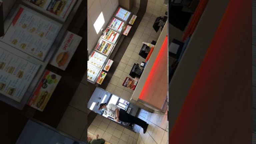
[[[167,109],[167,26],[165,24],[131,97],[162,112]]]

